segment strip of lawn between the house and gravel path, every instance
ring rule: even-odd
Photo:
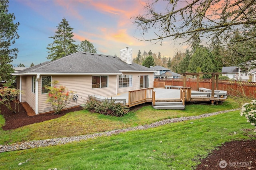
[[[155,110],[151,106],[147,106],[136,112],[130,112],[124,117],[110,117],[82,110],[68,113],[57,119],[27,125],[14,130],[5,131],[1,128],[0,144],[92,134],[150,124],[164,119],[196,116],[237,107],[236,102],[228,99],[222,105],[186,105],[184,110]],[[1,121],[0,123],[2,127],[4,122]]]

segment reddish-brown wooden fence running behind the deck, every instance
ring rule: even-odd
[[[158,83],[155,83],[158,82]],[[164,85],[176,85],[183,86],[183,79],[154,79],[155,88],[163,88],[162,82]],[[192,87],[192,90],[196,90],[197,80],[188,78],[186,79],[186,87]],[[157,85],[160,85],[158,87]],[[212,79],[199,79],[199,87],[204,87],[207,89],[212,89]],[[228,95],[232,96],[247,96],[251,99],[256,99],[256,83],[255,82],[243,82],[243,81],[232,81],[232,80],[219,80],[218,89],[215,90],[224,90],[228,92]]]

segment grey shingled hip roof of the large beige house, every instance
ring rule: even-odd
[[[60,59],[18,71],[13,75],[121,75],[122,71],[154,72],[148,67],[136,63],[127,64],[112,55],[78,51]]]

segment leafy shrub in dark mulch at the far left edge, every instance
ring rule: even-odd
[[[0,104],[5,105],[10,111],[17,113],[20,108],[20,103],[16,101],[17,96],[20,94],[20,90],[14,88],[4,87],[0,89]],[[14,102],[14,108],[11,102]]]

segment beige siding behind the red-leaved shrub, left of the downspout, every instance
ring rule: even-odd
[[[38,83],[38,113],[52,111],[49,103],[46,103],[47,94],[41,93],[41,76]],[[71,101],[67,107],[73,107],[85,103],[88,95],[110,96],[116,95],[116,75],[108,76],[108,87],[92,89],[92,75],[77,76],[52,76],[52,81],[58,80],[58,85],[64,85],[69,91],[74,91],[78,95],[77,101]]]

